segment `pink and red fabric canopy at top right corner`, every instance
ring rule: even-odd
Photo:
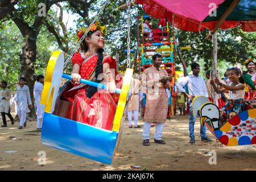
[[[213,30],[220,16],[232,3],[231,0],[137,0],[137,2],[143,5],[144,11],[155,18],[168,18],[175,27],[194,32],[205,28]],[[220,28],[228,29],[241,25],[243,31],[256,31],[255,6],[246,7],[245,2],[248,3],[248,1],[239,2],[237,10],[226,18]],[[254,5],[255,1],[250,0],[249,3]],[[217,16],[209,16],[215,9]]]

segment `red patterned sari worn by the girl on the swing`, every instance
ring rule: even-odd
[[[81,57],[80,53],[75,53],[72,57],[72,63],[80,65],[79,74],[81,77],[90,81],[96,80],[97,60],[97,53],[85,57],[85,59]],[[118,88],[118,82],[122,81],[122,78],[118,79],[120,75],[118,75],[115,60],[109,55],[104,55],[103,63],[109,63],[110,69],[114,70],[115,84]],[[102,129],[112,130],[119,94],[109,94],[105,90],[98,90],[92,98],[88,98],[86,96],[88,87],[86,84],[74,85],[72,89],[64,94],[64,97],[72,102],[68,118]]]

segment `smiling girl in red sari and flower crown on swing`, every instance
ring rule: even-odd
[[[82,37],[86,29],[77,32]],[[64,94],[64,97],[72,102],[68,118],[112,130],[113,119],[117,107],[119,94],[115,94],[118,78],[115,60],[103,54],[104,27],[98,23],[92,28],[81,43],[81,52],[72,57],[73,71],[71,74],[73,88]],[[106,90],[98,90],[94,86],[80,84],[81,78],[106,84]],[[104,80],[104,81],[102,81]]]

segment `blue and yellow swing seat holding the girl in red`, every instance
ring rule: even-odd
[[[67,91],[67,86],[64,84],[60,88],[60,82],[61,78],[71,80],[71,76],[63,74],[63,69],[63,52],[53,52],[47,65],[42,99],[40,101],[41,104],[46,106],[42,124],[42,143],[61,151],[111,164],[121,137],[123,114],[129,99],[127,96],[133,69],[126,69],[122,89],[115,90],[120,96],[112,131],[67,119],[71,102],[63,98],[63,93]],[[105,85],[97,82],[83,79],[80,82],[97,86],[101,89],[105,88]]]

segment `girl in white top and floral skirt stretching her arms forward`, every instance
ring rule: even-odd
[[[229,100],[222,109],[221,120],[224,122],[242,111],[243,99],[245,98],[245,85],[243,85],[241,70],[237,67],[228,69],[228,77],[230,80],[228,85],[221,83],[218,79],[215,80],[216,84],[223,88],[218,89],[218,93],[229,90]]]

